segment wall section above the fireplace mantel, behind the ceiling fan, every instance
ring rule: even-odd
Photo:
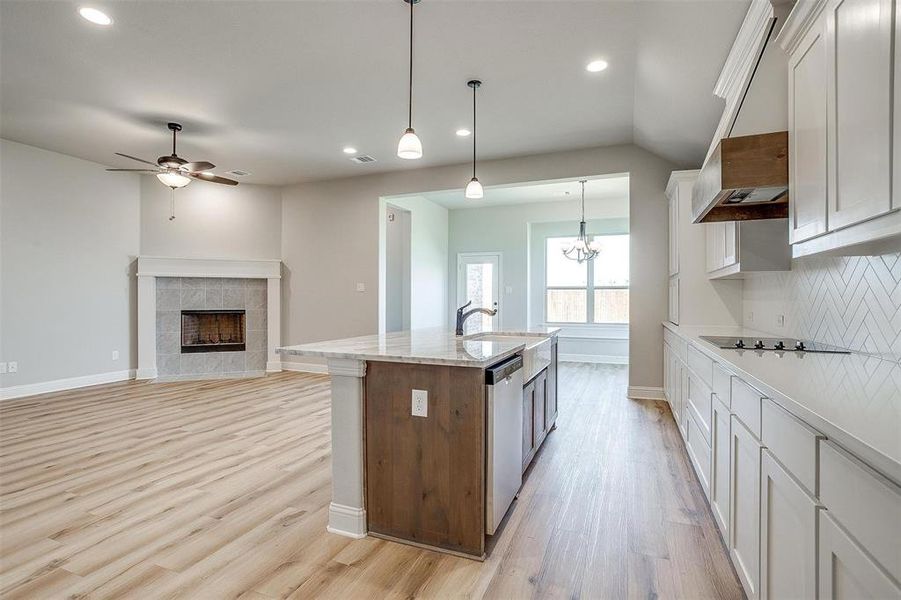
[[[281,257],[281,188],[192,181],[175,192],[141,178],[141,254],[179,258]]]

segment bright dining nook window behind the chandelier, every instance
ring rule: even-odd
[[[629,322],[629,235],[598,235],[592,239],[600,246],[600,254],[579,264],[563,256],[571,237],[547,238],[548,323]]]

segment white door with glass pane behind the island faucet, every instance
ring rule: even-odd
[[[457,306],[454,308],[463,306],[471,300],[472,306],[469,309],[498,309],[498,314],[494,317],[485,314],[469,317],[464,327],[464,333],[500,328],[500,287],[500,254],[465,253],[457,255]]]

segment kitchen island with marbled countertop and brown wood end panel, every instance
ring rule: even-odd
[[[422,329],[279,348],[284,355],[327,360],[328,530],[484,558],[485,536],[494,531],[493,432],[496,425],[521,432],[512,449],[519,477],[556,422],[556,337],[556,328],[464,337]],[[496,365],[506,365],[501,367],[506,375],[511,364],[516,378],[504,381],[522,382],[522,394],[516,390],[522,416],[515,423],[491,424],[486,376],[499,372]],[[509,435],[504,439],[510,448]],[[505,510],[502,506],[500,514]]]

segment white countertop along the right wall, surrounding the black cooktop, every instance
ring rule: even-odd
[[[780,357],[724,350],[699,336],[766,334],[737,327],[664,326],[901,485],[901,363],[859,352]]]

